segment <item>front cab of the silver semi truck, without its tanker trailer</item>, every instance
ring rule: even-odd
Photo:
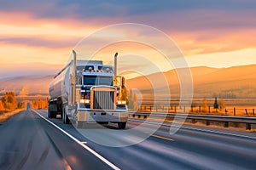
[[[114,77],[113,66],[92,65],[90,62],[79,72],[77,88],[79,122],[118,123],[125,128],[127,105],[121,91],[125,90],[121,77]],[[114,82],[117,82],[113,86]]]

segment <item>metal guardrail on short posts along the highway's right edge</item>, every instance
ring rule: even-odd
[[[167,120],[173,120],[174,117],[190,119],[192,123],[195,123],[197,120],[206,121],[206,125],[210,125],[210,122],[224,122],[224,127],[229,127],[229,122],[245,123],[246,129],[251,130],[251,125],[256,124],[256,117],[247,117],[247,116],[212,116],[212,115],[195,115],[195,114],[170,114],[170,113],[158,113],[158,112],[129,112],[131,117],[136,118],[148,118],[157,117],[165,118]]]

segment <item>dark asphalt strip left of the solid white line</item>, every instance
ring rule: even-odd
[[[112,169],[34,111],[0,126],[0,169]]]

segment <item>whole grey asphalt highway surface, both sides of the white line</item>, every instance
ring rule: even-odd
[[[109,147],[96,144],[88,135],[119,144],[139,137],[134,134],[124,139],[119,135],[122,130],[112,125],[107,127],[116,133],[93,127],[77,131],[61,119],[44,120],[46,115],[46,111],[28,109],[0,126],[0,169],[256,168],[256,133],[186,125],[170,135],[166,125],[138,144]],[[126,130],[140,123],[130,121]],[[154,124],[148,124],[151,127]],[[84,137],[81,132],[85,131],[94,133]]]

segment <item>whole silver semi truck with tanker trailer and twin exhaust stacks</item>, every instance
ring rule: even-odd
[[[125,129],[128,120],[125,77],[117,75],[117,56],[114,65],[102,60],[73,59],[49,84],[48,117],[58,115],[64,123],[76,127],[84,123],[117,123]]]

